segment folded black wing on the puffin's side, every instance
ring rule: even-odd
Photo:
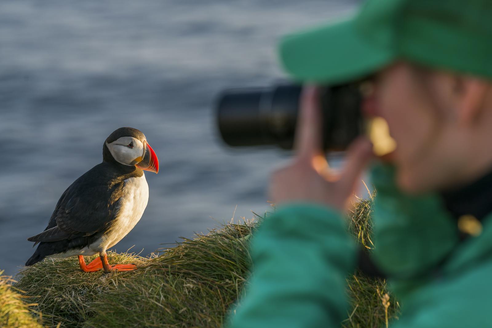
[[[123,179],[101,163],[75,180],[62,194],[45,231],[29,241],[50,242],[91,236],[117,217]]]

